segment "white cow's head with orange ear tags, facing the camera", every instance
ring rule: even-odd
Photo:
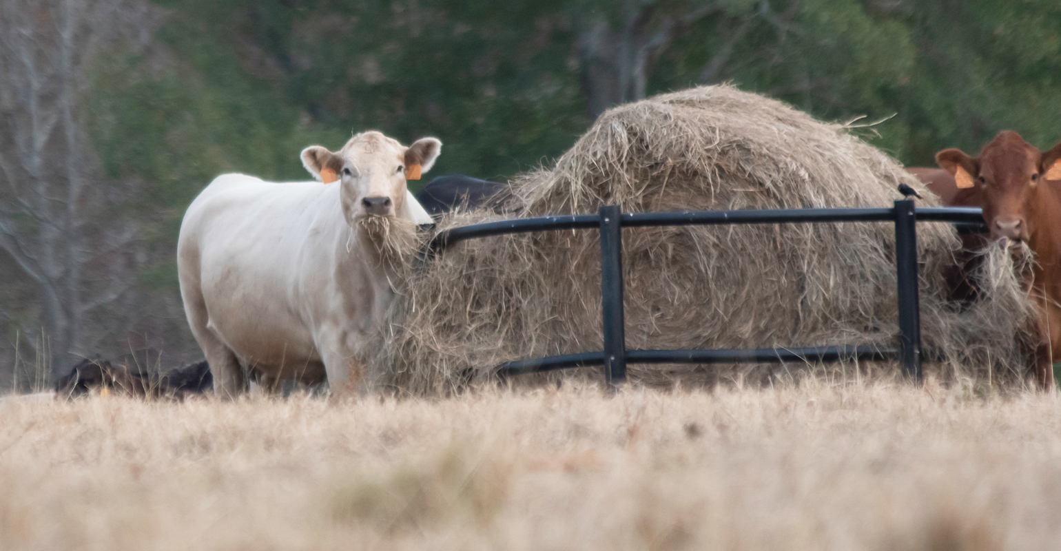
[[[350,138],[338,152],[302,150],[306,170],[325,184],[338,182],[343,212],[352,226],[373,218],[410,219],[406,177],[419,178],[438,158],[442,142],[422,138],[408,148],[379,132]]]

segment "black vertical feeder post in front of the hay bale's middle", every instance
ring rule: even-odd
[[[618,205],[601,207],[601,306],[604,321],[604,376],[609,386],[626,382],[623,317],[623,224]]]

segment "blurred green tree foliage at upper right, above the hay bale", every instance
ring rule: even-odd
[[[1061,139],[1059,44],[1061,4],[1045,0],[769,0],[677,37],[648,88],[732,81],[823,119],[892,117],[868,137],[933,165],[1004,128]]]

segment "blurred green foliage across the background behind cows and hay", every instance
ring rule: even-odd
[[[375,127],[446,143],[437,173],[504,178],[564,151],[591,123],[575,23],[622,2],[545,0],[159,0],[161,67],[99,64],[92,136],[106,174],[179,210],[225,171],[303,177],[297,152]],[[643,4],[654,2],[642,1]],[[908,163],[975,151],[1014,128],[1061,139],[1061,4],[1048,0],[662,2],[725,7],[683,30],[649,68],[648,93],[700,84],[727,33],[750,18],[712,81],[825,119],[892,117],[877,143]]]

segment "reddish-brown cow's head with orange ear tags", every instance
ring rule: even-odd
[[[1032,213],[1041,187],[1061,186],[1045,182],[1061,179],[1061,143],[1043,153],[1012,131],[1001,132],[978,157],[952,148],[937,153],[936,162],[954,175],[959,188],[980,191],[992,241],[1010,247],[1021,247],[1036,231]]]

